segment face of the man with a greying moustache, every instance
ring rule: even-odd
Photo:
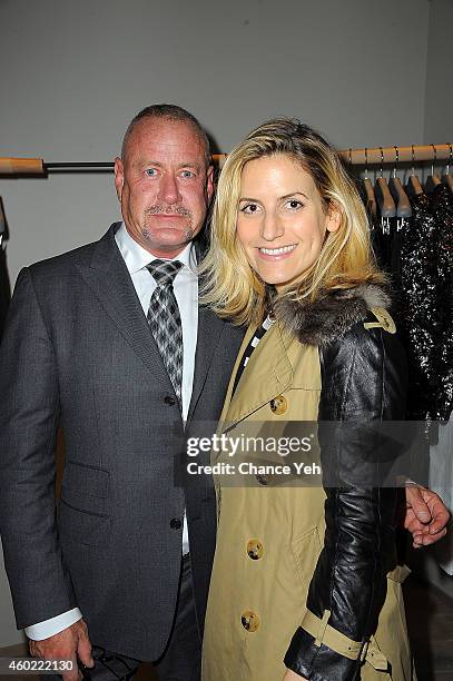
[[[130,236],[152,255],[174,258],[203,227],[213,168],[189,122],[145,118],[115,161],[115,187]]]

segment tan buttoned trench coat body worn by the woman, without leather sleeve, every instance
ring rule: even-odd
[[[252,337],[253,329],[244,338],[239,357]],[[289,337],[277,322],[253,353],[232,399],[237,366],[238,362],[221,417],[224,423],[237,422],[229,436],[238,435],[245,425],[253,428],[255,424],[259,431],[259,422],[316,421],[321,394],[317,347]],[[213,463],[227,460],[233,461],[224,454],[213,456]],[[301,486],[299,481],[294,486],[290,482],[282,485],[277,477],[268,486],[232,486],[229,477],[215,480],[219,523],[203,681],[280,681],[286,671],[284,655],[299,625],[348,654],[353,642],[345,636],[328,641],[321,620],[313,621],[306,609],[323,546],[322,486]],[[386,601],[362,668],[363,681],[415,679],[401,590],[406,573],[397,568],[388,574]],[[383,671],[387,660],[392,674]]]

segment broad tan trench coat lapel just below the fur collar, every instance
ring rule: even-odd
[[[278,322],[266,332],[258,348],[252,354],[246,371],[243,373],[235,394],[232,396],[235,376],[240,365],[242,356],[255,328],[245,335],[238,358],[228,386],[228,393],[221,414],[226,427],[246,418],[283,393],[293,381],[293,368],[287,354],[287,339]]]

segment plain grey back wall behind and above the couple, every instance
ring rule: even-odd
[[[112,159],[159,101],[193,111],[223,151],[274,115],[339,147],[421,144],[429,13],[427,0],[0,0],[0,156]],[[3,179],[0,195],[12,280],[119,215],[109,175]],[[0,645],[18,638],[4,599]]]

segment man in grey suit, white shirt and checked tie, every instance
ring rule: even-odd
[[[150,660],[160,680],[191,681],[216,511],[209,480],[183,488],[174,463],[197,420],[218,417],[243,335],[197,303],[196,237],[213,193],[198,121],[168,105],[141,111],[115,184],[124,224],[23,269],[16,286],[0,352],[4,560],[32,654],[90,667],[92,641],[130,669]],[[406,524],[430,543],[444,510],[411,494]]]

